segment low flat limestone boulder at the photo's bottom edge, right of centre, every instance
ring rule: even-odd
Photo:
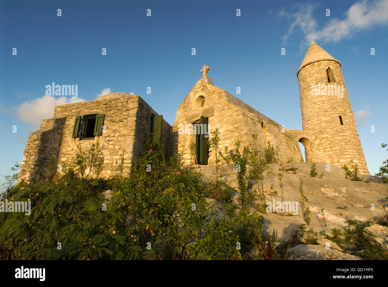
[[[289,249],[289,254],[288,260],[361,260],[358,256],[312,244],[296,245]]]

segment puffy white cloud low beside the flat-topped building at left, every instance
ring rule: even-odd
[[[66,98],[59,97],[57,99],[54,96],[43,96],[42,98],[36,98],[35,100],[25,101],[19,107],[17,107],[17,117],[22,122],[27,122],[38,129],[43,119],[50,119],[54,116],[54,108],[57,105],[65,105],[68,103],[78,103],[85,101],[81,98]]]

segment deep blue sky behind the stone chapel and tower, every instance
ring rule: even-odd
[[[78,98],[87,101],[102,91],[137,94],[173,124],[206,64],[215,86],[301,129],[296,72],[312,40],[342,64],[367,165],[376,173],[387,158],[380,147],[388,142],[387,25],[386,0],[0,1],[0,178],[22,161],[28,134],[52,117],[55,104],[70,101],[43,97],[52,82],[77,84]]]

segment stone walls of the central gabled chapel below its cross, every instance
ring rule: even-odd
[[[201,106],[201,99],[204,105]],[[179,124],[184,125],[198,120],[200,115],[208,117],[210,132],[216,128],[220,131],[220,151],[234,148],[234,141],[241,140],[241,151],[246,145],[252,144],[260,152],[269,141],[274,147],[278,146],[278,160],[286,161],[293,157],[299,161],[301,152],[298,142],[282,133],[279,124],[249,107],[232,94],[213,86],[198,81],[185,100],[177,109],[175,123],[172,126],[171,149],[184,152],[185,164],[195,164],[190,152],[190,144],[195,143],[195,135],[178,134]],[[257,134],[258,139],[253,141],[252,134]],[[209,151],[209,165],[215,162],[215,153]]]

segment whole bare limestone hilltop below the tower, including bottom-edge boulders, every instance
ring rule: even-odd
[[[388,250],[388,228],[386,228],[386,218],[388,213],[388,184],[381,183],[378,177],[371,175],[361,176],[363,181],[355,181],[346,179],[346,171],[337,166],[330,166],[330,171],[327,172],[327,165],[324,163],[315,163],[317,175],[310,175],[312,163],[286,163],[268,165],[269,169],[265,172],[263,185],[261,182],[250,181],[250,192],[261,191],[262,186],[265,195],[266,203],[291,202],[296,207],[297,212],[291,210],[276,211],[271,208],[262,212],[265,217],[265,226],[267,232],[272,234],[275,230],[277,242],[285,242],[291,240],[295,232],[301,230],[301,226],[306,224],[302,211],[301,197],[301,180],[303,193],[305,195],[305,208],[310,210],[310,222],[305,225],[305,230],[309,233],[304,233],[300,238],[301,242],[308,243],[307,237],[311,236],[318,240],[320,245],[297,245],[291,249],[289,259],[360,259],[357,256],[351,256],[343,253],[342,249],[335,249],[334,242],[324,239],[324,233],[333,236],[333,229],[345,231],[348,225],[346,221],[371,221],[375,224],[367,228],[371,236],[372,243],[378,244],[385,250]],[[197,166],[197,171],[203,175],[204,180],[215,180],[215,166]],[[279,181],[278,173],[282,174],[281,182]],[[233,200],[236,201],[238,195],[236,168],[234,165],[220,166],[218,174],[225,186],[235,189],[232,194]],[[283,185],[283,191],[281,185]],[[281,194],[283,192],[283,195]],[[212,201],[216,208],[221,209],[221,202],[213,199]],[[256,200],[256,203],[259,203]],[[323,215],[322,215],[322,209]],[[256,208],[257,210],[257,208]],[[255,203],[251,207],[251,212],[255,211]],[[294,212],[293,212],[294,211]],[[326,221],[326,228],[324,227]],[[385,226],[383,226],[385,224]],[[329,242],[329,243],[327,243]],[[323,246],[322,246],[323,245]],[[330,245],[331,248],[326,248],[325,245]],[[355,246],[347,246],[348,250],[357,250]]]

